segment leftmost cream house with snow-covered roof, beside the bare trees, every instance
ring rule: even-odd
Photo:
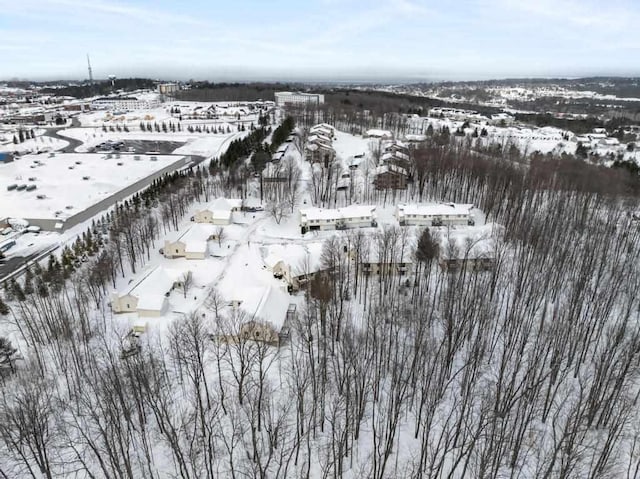
[[[162,316],[169,308],[169,293],[182,287],[189,273],[157,266],[126,293],[111,295],[111,310],[118,313],[138,313],[143,317]]]

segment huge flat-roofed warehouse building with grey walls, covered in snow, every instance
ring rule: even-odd
[[[50,153],[0,163],[0,218],[61,232],[189,162],[182,155]]]

